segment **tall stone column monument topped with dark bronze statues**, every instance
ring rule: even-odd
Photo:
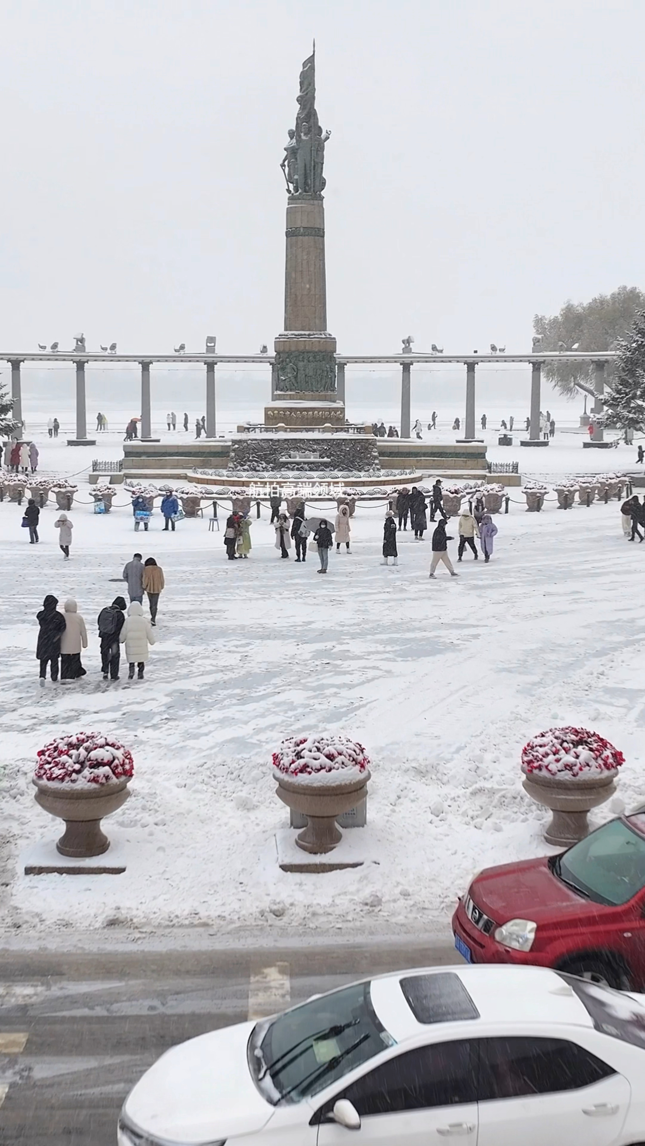
[[[302,65],[295,127],[280,164],[287,194],[285,329],[275,339],[267,426],[306,430],[344,424],[336,397],[336,339],[327,331],[325,144],[316,111],[316,45]]]

